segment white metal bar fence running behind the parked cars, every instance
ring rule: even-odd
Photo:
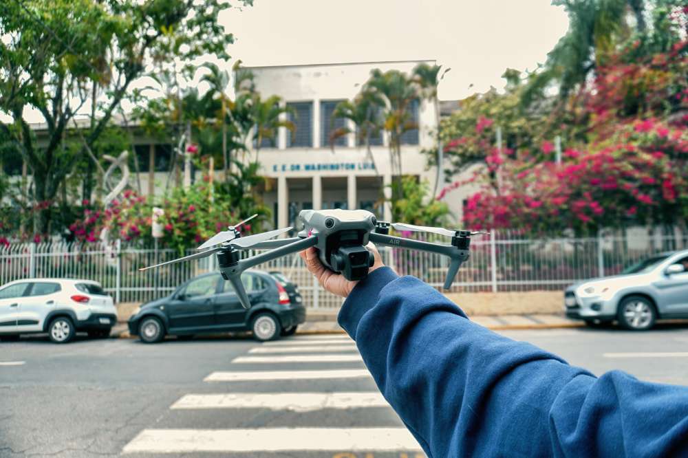
[[[443,240],[446,243],[446,240]],[[590,238],[532,239],[513,231],[493,231],[475,237],[471,259],[462,265],[452,291],[513,292],[561,290],[570,283],[621,272],[630,263],[666,250],[688,248],[688,234],[678,230],[627,231],[625,235]],[[191,254],[193,250],[188,253]],[[181,255],[176,250],[135,248],[120,241],[107,248],[96,243],[25,243],[0,248],[0,285],[30,277],[72,277],[99,281],[117,303],[146,302],[173,292],[202,272],[215,270],[215,257],[178,263],[158,270],[139,268]],[[399,274],[413,275],[440,288],[447,260],[438,254],[398,248],[382,250],[387,265]],[[309,307],[336,309],[341,298],[325,292],[294,254],[260,265],[279,270],[299,285]]]

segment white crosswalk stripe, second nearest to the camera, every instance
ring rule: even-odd
[[[269,408],[312,412],[323,408],[387,407],[379,392],[369,393],[225,393],[184,395],[170,408]]]

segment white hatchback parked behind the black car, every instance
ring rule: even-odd
[[[112,298],[99,283],[74,279],[25,279],[0,287],[0,337],[47,332],[66,343],[77,331],[107,337],[117,323]]]

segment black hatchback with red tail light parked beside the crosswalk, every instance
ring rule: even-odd
[[[129,333],[154,343],[167,334],[190,337],[250,330],[264,341],[290,336],[305,321],[297,286],[279,272],[247,270],[241,281],[251,301],[248,310],[231,283],[213,272],[187,281],[171,296],[142,305],[129,318]]]

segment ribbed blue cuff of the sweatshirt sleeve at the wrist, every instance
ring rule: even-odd
[[[339,325],[352,339],[356,338],[356,327],[363,314],[377,303],[380,290],[398,278],[394,270],[385,266],[370,272],[365,279],[356,284],[337,316]]]

